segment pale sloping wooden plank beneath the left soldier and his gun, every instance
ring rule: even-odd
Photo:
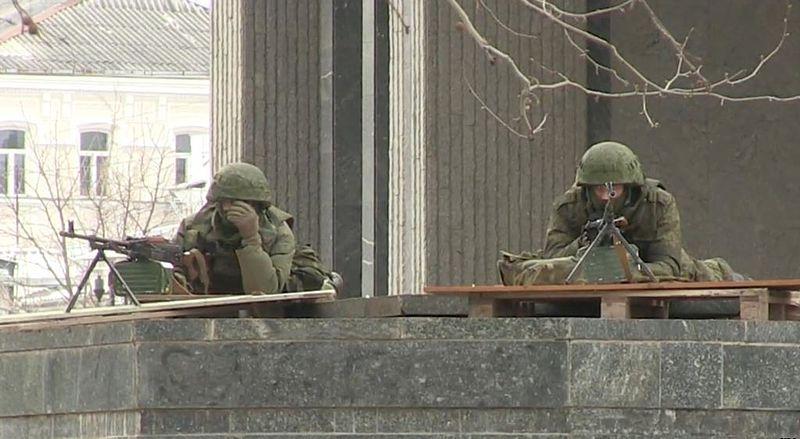
[[[305,291],[301,293],[283,293],[267,295],[240,295],[224,297],[204,297],[201,299],[190,299],[175,302],[156,302],[143,303],[141,306],[122,305],[122,306],[103,306],[96,308],[82,308],[73,310],[70,313],[63,311],[47,311],[30,314],[13,314],[0,317],[0,326],[6,324],[46,321],[46,320],[66,320],[78,319],[90,316],[110,316],[120,314],[139,314],[153,311],[179,311],[192,310],[198,308],[213,308],[224,306],[246,306],[257,303],[284,302],[291,300],[333,300],[336,292],[329,291]]]

